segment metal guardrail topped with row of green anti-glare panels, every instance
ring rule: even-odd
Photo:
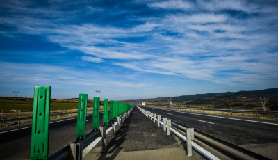
[[[103,124],[99,126],[99,97],[94,97],[92,113],[92,131],[85,134],[87,117],[87,94],[79,94],[77,112],[76,139],[69,145],[48,156],[49,149],[49,109],[50,86],[35,86],[33,103],[33,122],[30,159],[82,159],[92,147],[102,140],[101,150],[106,150],[106,133],[113,130],[128,118],[134,105],[110,101],[108,117],[108,99],[104,99]],[[109,120],[110,119],[110,120]],[[117,122],[116,122],[117,120]]]

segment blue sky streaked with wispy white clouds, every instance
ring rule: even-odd
[[[0,96],[124,100],[277,88],[278,1],[0,1]]]

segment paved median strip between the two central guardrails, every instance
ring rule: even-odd
[[[188,157],[185,148],[179,138],[172,133],[167,136],[135,107],[117,137],[108,143],[108,152],[90,152],[85,159],[204,159],[195,151]]]

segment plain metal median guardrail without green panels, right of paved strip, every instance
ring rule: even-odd
[[[191,140],[195,140],[195,138],[197,138],[198,140],[208,143],[209,145],[213,145],[213,147],[218,148],[218,150],[221,150],[222,152],[225,152],[226,154],[229,154],[231,157],[235,157],[236,159],[269,159],[268,157],[264,157],[261,154],[257,154],[233,143],[224,141],[218,137],[212,136],[211,134],[206,134],[204,131],[199,131],[198,129],[193,129],[188,125],[183,125],[180,122],[169,120],[168,118],[163,118],[161,117],[161,115],[156,115],[155,113],[146,111],[145,109],[139,109],[147,117],[151,118],[151,120],[152,118],[154,118],[154,122],[158,122],[158,127],[160,126],[159,124],[163,125],[163,130],[167,131],[167,135],[169,135],[169,131],[172,131],[174,134],[183,139],[183,141],[186,141],[188,156],[192,155],[192,152],[190,151],[192,145],[197,151],[208,157],[208,159],[218,159],[217,157],[213,158],[214,156],[212,154],[205,152],[204,150],[202,150],[202,147],[198,147],[196,143],[191,142]],[[161,118],[163,118],[163,122],[161,122]],[[181,136],[179,132],[175,131],[171,127],[179,129],[181,133],[186,134],[186,138],[184,136]],[[185,131],[186,133],[184,133],[183,131]]]

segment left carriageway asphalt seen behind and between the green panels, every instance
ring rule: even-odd
[[[99,113],[102,124],[103,113]],[[76,138],[76,116],[51,120],[49,124],[49,155]],[[31,123],[0,129],[0,159],[30,159]],[[86,134],[92,131],[92,114],[87,115]]]

